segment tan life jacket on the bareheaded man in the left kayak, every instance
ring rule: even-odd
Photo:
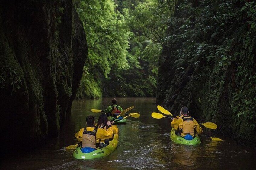
[[[87,131],[85,128],[82,136],[82,147],[96,148],[96,133],[98,128],[94,126],[93,131]]]

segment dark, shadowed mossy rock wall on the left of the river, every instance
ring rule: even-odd
[[[1,150],[27,144],[31,149],[58,137],[86,58],[85,32],[72,0],[1,2]]]

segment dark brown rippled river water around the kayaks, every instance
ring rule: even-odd
[[[117,102],[123,109],[135,106],[129,113],[140,112],[141,116],[118,125],[119,144],[110,155],[78,160],[72,157],[72,151],[64,149],[76,143],[74,134],[85,126],[86,116],[98,119],[99,113],[92,113],[92,108],[104,110],[111,104],[111,98],[76,100],[72,118],[58,139],[40,149],[5,158],[0,169],[256,169],[256,150],[241,147],[230,138],[216,136],[225,140],[216,142],[201,135],[200,145],[174,144],[169,137],[171,119],[151,117],[152,112],[159,112],[155,98],[117,98]]]

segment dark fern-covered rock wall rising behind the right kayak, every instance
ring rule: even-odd
[[[187,106],[213,133],[256,147],[254,1],[178,1],[160,56],[157,103]]]

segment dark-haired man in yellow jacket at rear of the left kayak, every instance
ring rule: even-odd
[[[100,143],[102,139],[110,139],[113,136],[112,125],[110,121],[107,121],[107,130],[104,128],[97,128],[95,124],[95,118],[93,116],[86,117],[86,128],[80,129],[77,139],[82,141],[81,151],[83,153],[89,153],[96,150],[97,143]]]

